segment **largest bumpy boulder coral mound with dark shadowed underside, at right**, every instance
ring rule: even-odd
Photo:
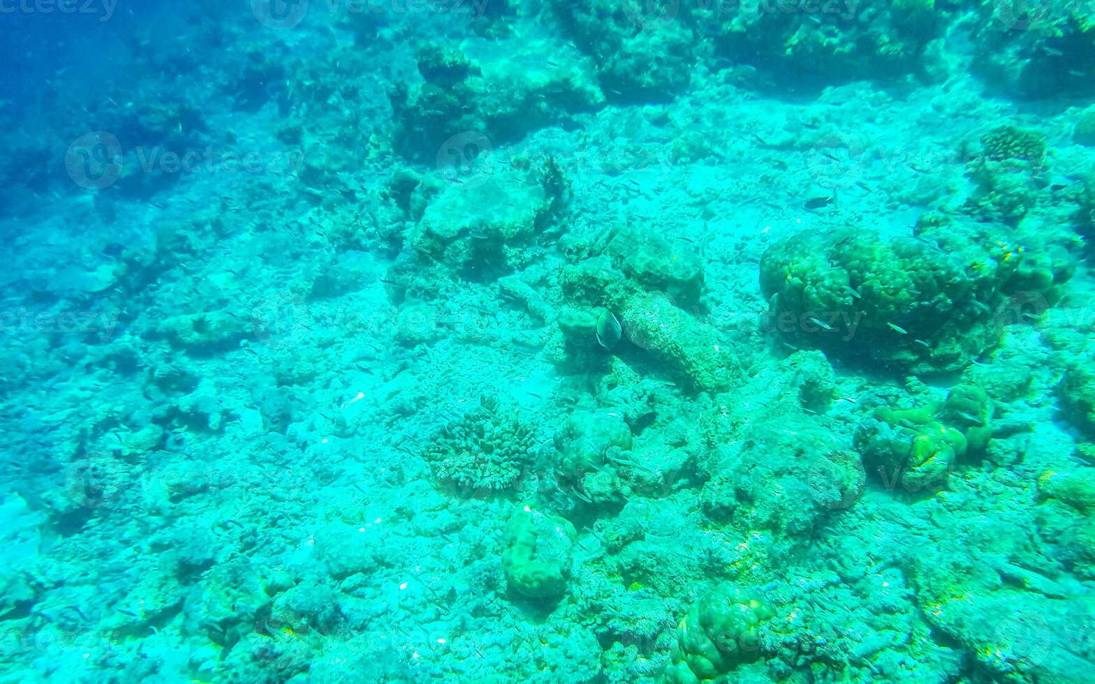
[[[925,215],[915,236],[806,231],[761,259],[766,332],[845,361],[953,371],[1035,318],[1072,276],[1063,247],[1002,227]]]

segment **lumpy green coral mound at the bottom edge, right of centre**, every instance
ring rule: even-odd
[[[772,616],[758,593],[731,584],[706,593],[677,625],[662,681],[731,681],[727,674],[764,654],[762,629]]]

